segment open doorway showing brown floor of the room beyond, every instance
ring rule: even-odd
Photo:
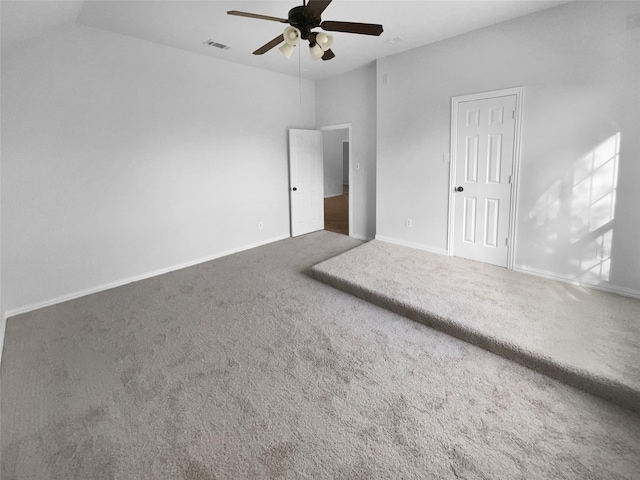
[[[351,125],[320,127],[324,158],[324,229],[351,234]]]

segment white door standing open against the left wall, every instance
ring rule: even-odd
[[[324,229],[322,132],[289,130],[291,236]]]

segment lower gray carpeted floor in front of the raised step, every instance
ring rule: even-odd
[[[329,232],[10,318],[2,479],[637,479],[640,416],[320,283]]]

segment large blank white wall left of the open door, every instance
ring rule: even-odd
[[[5,311],[288,236],[298,85],[77,25],[3,56]]]

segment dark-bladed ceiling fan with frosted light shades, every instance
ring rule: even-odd
[[[317,60],[331,60],[335,54],[331,50],[333,44],[333,36],[324,32],[312,32],[311,30],[320,27],[329,32],[345,32],[357,33],[360,35],[375,35],[382,33],[382,25],[374,23],[354,23],[354,22],[335,22],[322,21],[322,12],[329,6],[331,0],[302,0],[302,5],[289,10],[287,18],[270,17],[257,13],[239,12],[230,10],[229,15],[237,15],[239,17],[257,18],[259,20],[270,20],[272,22],[288,23],[284,33],[281,33],[270,42],[265,43],[262,47],[253,52],[254,55],[262,55],[272,48],[284,42],[279,50],[282,54],[291,58],[294,47],[299,39],[309,41],[309,51],[311,58]]]

